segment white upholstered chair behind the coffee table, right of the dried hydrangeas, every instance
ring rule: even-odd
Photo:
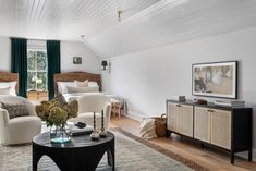
[[[100,94],[86,94],[81,96],[78,99],[78,115],[72,119],[74,123],[85,122],[93,126],[94,123],[94,111],[96,112],[96,127],[101,127],[101,110],[105,113],[105,129],[108,130],[110,120],[110,102],[109,98]]]

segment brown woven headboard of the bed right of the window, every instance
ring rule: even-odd
[[[85,80],[97,82],[99,85],[99,88],[101,87],[100,74],[93,74],[93,73],[87,73],[87,72],[68,72],[68,73],[54,74],[53,76],[54,91],[58,93],[57,82],[73,82],[74,80],[81,81],[81,82]]]

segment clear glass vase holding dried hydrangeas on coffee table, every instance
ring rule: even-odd
[[[50,130],[50,141],[51,143],[63,144],[71,141],[70,134],[64,125],[62,126],[51,126]]]

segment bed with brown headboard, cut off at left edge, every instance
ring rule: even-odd
[[[0,95],[16,96],[19,91],[19,74],[0,71]]]

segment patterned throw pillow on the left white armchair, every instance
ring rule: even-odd
[[[9,112],[10,119],[28,115],[25,102],[17,102],[17,103],[1,102],[1,105],[2,109],[5,109]]]

